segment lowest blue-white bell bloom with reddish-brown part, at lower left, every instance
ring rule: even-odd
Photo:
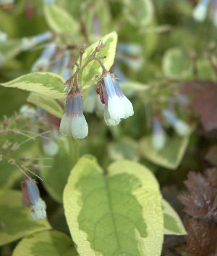
[[[21,184],[22,188],[22,205],[31,207],[30,215],[34,220],[46,218],[46,203],[41,199],[38,186],[35,181],[25,178]]]

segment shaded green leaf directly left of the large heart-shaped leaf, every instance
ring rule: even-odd
[[[51,165],[51,168],[40,168],[41,178],[51,197],[57,202],[62,202],[64,186],[67,183],[70,170],[72,168],[69,154],[67,137],[61,136],[55,140],[59,146],[59,152],[53,157],[53,160],[41,160],[41,166]],[[43,152],[41,150],[41,152]],[[48,154],[42,154],[42,158],[51,157]]]

